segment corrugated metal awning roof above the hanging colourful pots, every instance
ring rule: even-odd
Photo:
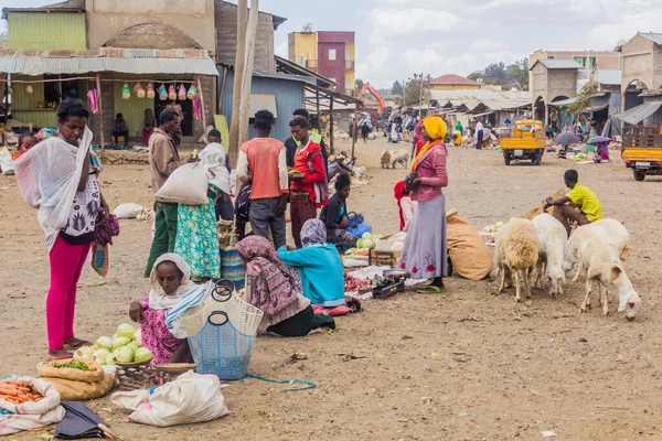
[[[202,50],[0,50],[0,73],[39,76],[89,72],[218,75],[216,64]]]

